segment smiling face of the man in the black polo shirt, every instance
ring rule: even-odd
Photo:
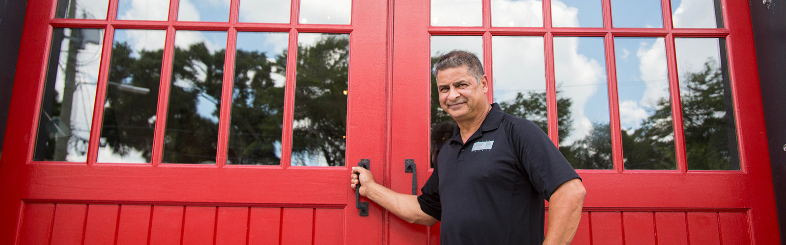
[[[437,72],[439,105],[456,121],[476,118],[489,104],[486,75],[477,81],[467,71],[461,66]]]

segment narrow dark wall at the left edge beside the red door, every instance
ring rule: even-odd
[[[0,4],[2,4],[0,5],[0,149],[2,149],[28,0],[0,0]]]

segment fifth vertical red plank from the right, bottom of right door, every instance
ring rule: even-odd
[[[592,239],[594,244],[623,244],[623,227],[620,212],[593,212]]]

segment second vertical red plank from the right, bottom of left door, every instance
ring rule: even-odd
[[[285,208],[281,224],[281,244],[311,244],[314,209]]]

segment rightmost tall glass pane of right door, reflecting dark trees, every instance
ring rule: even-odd
[[[689,170],[740,170],[723,38],[674,38]]]

